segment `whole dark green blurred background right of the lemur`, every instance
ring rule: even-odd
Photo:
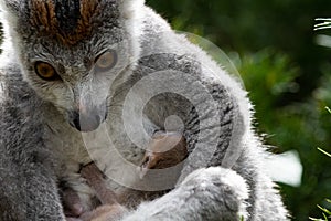
[[[148,0],[175,30],[195,33],[235,63],[255,105],[256,127],[277,152],[297,150],[302,185],[281,185],[293,220],[330,208],[331,50],[319,45],[316,18],[331,18],[330,0]],[[330,44],[331,46],[331,44]]]

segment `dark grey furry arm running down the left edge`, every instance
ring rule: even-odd
[[[64,221],[40,104],[18,76],[0,73],[0,220]]]

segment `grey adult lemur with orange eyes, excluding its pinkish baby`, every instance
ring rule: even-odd
[[[122,220],[287,219],[246,93],[142,0],[1,3],[0,220],[65,220],[63,187],[93,209],[90,161],[116,193],[170,189]],[[189,157],[137,181],[157,130]]]

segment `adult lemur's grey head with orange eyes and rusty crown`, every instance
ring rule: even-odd
[[[143,0],[1,0],[24,78],[82,131],[107,116],[110,86],[139,54]]]

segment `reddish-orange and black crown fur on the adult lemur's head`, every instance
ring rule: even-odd
[[[74,45],[92,33],[99,0],[31,0],[30,22],[39,34]]]

